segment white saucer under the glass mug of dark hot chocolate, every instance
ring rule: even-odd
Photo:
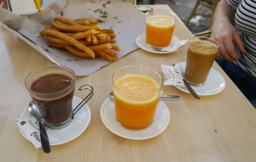
[[[82,100],[80,98],[74,96],[72,101],[72,107],[75,108],[81,101]],[[28,112],[28,107],[26,107],[26,109],[20,115],[20,118],[28,116],[31,115]],[[90,123],[90,118],[90,108],[87,104],[84,104],[84,106],[79,110],[79,112],[77,112],[76,115],[74,115],[74,119],[72,119],[72,122],[67,127],[58,130],[51,129],[51,131],[55,133],[60,138],[60,140],[52,142],[50,143],[50,145],[60,145],[71,140],[74,140],[76,137],[82,134],[84,130],[87,128],[87,126]],[[21,129],[20,133],[28,140],[28,138]]]

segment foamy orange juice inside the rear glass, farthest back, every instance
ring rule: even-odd
[[[151,16],[146,20],[146,42],[154,47],[171,44],[175,20],[168,16]]]

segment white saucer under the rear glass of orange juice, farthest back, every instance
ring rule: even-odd
[[[173,43],[175,43],[175,42],[177,42],[177,41],[179,41],[179,39],[176,37],[176,36],[172,36],[172,43],[171,43],[171,45],[173,44]],[[138,37],[137,37],[137,39],[136,39],[136,44],[140,47],[140,48],[142,48],[143,50],[146,50],[146,51],[148,51],[148,52],[152,52],[152,53],[172,53],[172,52],[174,52],[174,51],[156,51],[156,50],[154,50],[153,48],[151,48],[151,47],[149,47],[148,45],[147,45],[147,43],[146,43],[146,34],[145,33],[143,33],[143,34],[140,34]],[[176,48],[175,50],[177,50],[178,48]]]

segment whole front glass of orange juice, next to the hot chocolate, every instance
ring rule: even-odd
[[[126,66],[112,76],[116,119],[129,129],[143,129],[154,120],[162,78],[143,66]]]

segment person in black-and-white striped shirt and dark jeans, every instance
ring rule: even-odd
[[[211,29],[215,61],[256,108],[256,0],[221,0]]]

